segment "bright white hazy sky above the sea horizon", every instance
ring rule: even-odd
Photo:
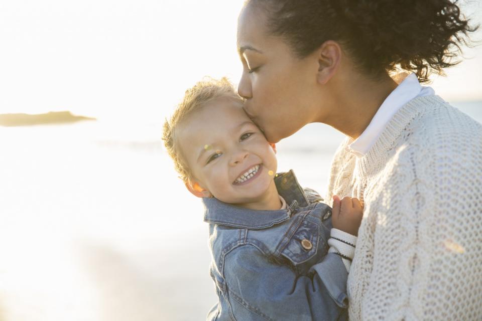
[[[243,0],[15,0],[0,3],[0,113],[71,110],[162,119],[205,75],[237,82]],[[482,22],[482,2],[466,14]],[[476,13],[476,14],[474,14]],[[478,32],[482,39],[482,32]],[[482,99],[482,46],[435,79],[451,101]]]

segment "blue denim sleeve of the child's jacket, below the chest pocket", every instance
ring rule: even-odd
[[[346,312],[347,272],[333,253],[299,275],[246,244],[226,255],[224,271],[235,320],[337,320]]]

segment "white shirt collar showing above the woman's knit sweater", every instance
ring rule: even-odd
[[[432,87],[421,86],[415,74],[410,74],[388,95],[363,133],[351,142],[346,151],[363,157],[377,141],[387,123],[397,111],[416,97],[434,95]]]

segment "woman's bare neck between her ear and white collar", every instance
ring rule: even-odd
[[[364,132],[384,100],[398,86],[389,75],[375,81],[342,69],[331,80],[326,88],[331,96],[327,100],[330,106],[324,106],[328,112],[321,122],[352,139]]]

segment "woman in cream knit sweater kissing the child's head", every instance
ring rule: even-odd
[[[268,140],[311,122],[347,136],[327,200],[365,202],[351,320],[482,319],[482,126],[420,85],[475,29],[448,0],[249,0],[239,16],[238,93]]]

